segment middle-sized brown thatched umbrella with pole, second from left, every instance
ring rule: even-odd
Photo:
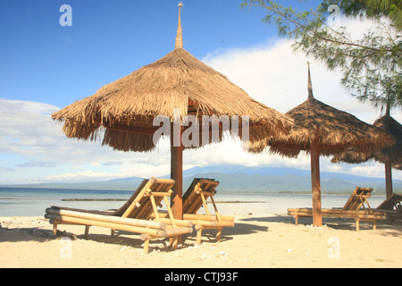
[[[320,156],[331,156],[345,147],[356,146],[359,150],[373,150],[391,144],[383,130],[358,120],[355,116],[323,104],[313,96],[313,87],[308,66],[308,99],[290,110],[287,115],[295,125],[281,139],[264,139],[252,144],[253,152],[262,152],[270,147],[271,153],[297,157],[301,151],[310,153],[313,193],[314,226],[322,225]]]

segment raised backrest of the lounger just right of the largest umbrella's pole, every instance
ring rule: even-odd
[[[219,181],[214,181],[213,179],[194,179],[183,196],[183,214],[197,214],[197,211],[203,206],[200,191],[203,191],[206,200],[214,196],[218,184]]]

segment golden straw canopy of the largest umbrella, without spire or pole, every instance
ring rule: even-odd
[[[221,73],[181,48],[100,88],[95,95],[74,102],[52,117],[64,122],[63,131],[68,137],[94,140],[99,135],[99,126],[153,134],[157,129],[152,126],[154,118],[164,115],[172,122],[175,108],[180,110],[181,119],[187,115],[197,118],[247,115],[252,140],[280,136],[289,132],[293,123],[284,114],[249,97]],[[104,144],[115,149],[149,151],[155,147],[150,144],[150,139],[145,145],[139,144],[144,149],[133,144],[122,147],[124,139],[135,136],[120,134],[118,139],[107,136],[105,133]]]

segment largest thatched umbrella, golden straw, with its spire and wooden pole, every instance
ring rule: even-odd
[[[209,129],[205,132],[198,126],[203,116],[223,115],[228,121],[233,119],[231,116],[247,115],[248,120],[242,117],[234,123],[232,120],[230,127],[234,126],[234,133],[242,139],[247,134],[253,142],[288,133],[293,123],[288,116],[255,101],[221,73],[185,51],[180,11],[179,8],[175,49],[171,53],[52,114],[54,120],[64,123],[63,132],[69,138],[96,140],[103,137],[103,145],[138,152],[155,148],[160,125],[155,126],[154,120],[163,115],[172,127],[164,135],[174,133],[170,136],[171,176],[176,184],[171,203],[178,218],[182,206],[182,152],[185,147],[200,147],[197,144],[183,146],[180,140],[183,132],[191,129],[194,137],[191,139],[199,142],[197,136],[201,139],[205,133],[212,132]],[[181,121],[187,115],[197,116],[196,126],[183,126]],[[202,141],[220,141],[225,131],[223,123],[219,123],[219,136]],[[241,134],[236,132],[237,126]]]

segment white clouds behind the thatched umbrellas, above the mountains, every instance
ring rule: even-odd
[[[318,100],[354,114],[365,122],[373,123],[380,116],[379,110],[362,105],[340,86],[339,73],[328,71],[314,59],[296,55],[290,45],[289,40],[268,40],[252,48],[220,49],[206,55],[203,61],[225,74],[251,97],[282,113],[306,100],[306,62],[309,61],[312,63],[314,96]],[[91,181],[161,176],[170,172],[169,139],[163,139],[151,153],[124,153],[102,147],[100,142],[67,139],[62,125],[50,117],[58,109],[53,105],[0,98],[0,158],[18,157],[15,163],[0,164],[4,176],[0,181]],[[392,115],[402,122],[400,110]],[[321,158],[322,171],[383,177],[382,164],[331,164],[330,160]],[[310,169],[309,156],[289,159],[253,155],[243,151],[239,140],[186,150],[183,161],[184,169],[218,164]],[[402,179],[402,172],[393,174],[395,179]]]

